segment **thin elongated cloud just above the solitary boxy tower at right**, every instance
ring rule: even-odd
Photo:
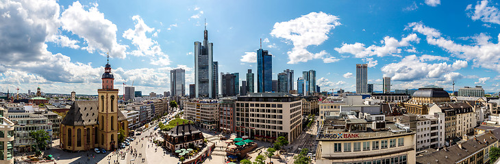
[[[384,44],[382,46],[371,45],[365,48],[364,44],[359,42],[355,42],[354,44],[343,43],[340,48],[335,48],[335,51],[338,53],[351,53],[358,58],[370,57],[373,55],[377,55],[378,57],[384,57],[387,55],[398,56],[397,54],[401,53],[401,49],[399,49],[400,47],[412,46],[410,42],[418,43],[419,41],[420,39],[415,33],[402,38],[401,41],[398,41],[390,36],[386,36],[384,37],[384,40],[380,41],[381,44]]]

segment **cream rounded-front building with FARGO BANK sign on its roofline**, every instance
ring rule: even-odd
[[[362,115],[362,113],[360,113]],[[416,163],[415,133],[384,115],[336,113],[321,126],[316,163]]]

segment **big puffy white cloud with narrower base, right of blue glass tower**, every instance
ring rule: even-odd
[[[337,16],[324,12],[311,12],[293,20],[275,23],[271,36],[283,38],[286,42],[293,44],[292,51],[287,52],[288,64],[297,64],[310,59],[324,59],[326,51],[310,53],[307,48],[325,42],[329,31],[338,25],[341,24]]]

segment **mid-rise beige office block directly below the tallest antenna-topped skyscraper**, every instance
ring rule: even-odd
[[[184,119],[190,120],[204,129],[218,129],[217,100],[186,100],[184,103]]]

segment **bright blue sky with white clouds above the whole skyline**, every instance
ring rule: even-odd
[[[273,54],[274,79],[285,69],[295,70],[295,79],[313,69],[322,91],[354,91],[355,64],[367,63],[368,83],[392,77],[393,90],[451,90],[455,81],[457,88],[499,92],[499,6],[439,0],[2,1],[0,92],[40,85],[48,93],[96,94],[106,52],[119,89],[134,82],[143,94],[162,94],[170,90],[173,68],[186,69],[189,88],[204,18],[219,73],[255,72],[262,38],[262,48]]]

